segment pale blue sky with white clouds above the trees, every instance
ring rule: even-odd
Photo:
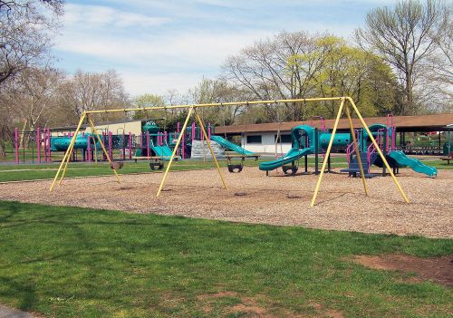
[[[120,73],[130,95],[185,93],[215,78],[226,57],[281,31],[351,38],[374,7],[393,0],[67,0],[55,39],[72,74]]]

